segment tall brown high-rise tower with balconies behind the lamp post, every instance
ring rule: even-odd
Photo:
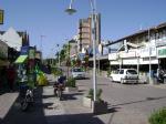
[[[79,21],[79,51],[82,52],[89,48],[92,48],[92,14],[87,19],[80,19]],[[101,14],[95,14],[95,41],[96,46],[101,43]]]

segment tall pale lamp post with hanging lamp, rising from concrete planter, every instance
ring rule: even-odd
[[[69,14],[76,12],[76,10],[72,9],[73,0],[71,0],[69,9],[65,10]],[[96,102],[96,51],[95,51],[95,38],[96,38],[96,8],[95,0],[90,0],[91,4],[91,13],[92,13],[92,42],[93,42],[93,100]]]

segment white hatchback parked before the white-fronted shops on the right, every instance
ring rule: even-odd
[[[120,69],[110,75],[111,81],[121,83],[138,83],[138,74],[135,69]]]

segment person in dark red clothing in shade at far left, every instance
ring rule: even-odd
[[[7,69],[7,80],[8,80],[8,85],[9,85],[10,91],[13,91],[13,84],[15,80],[15,70],[12,64],[10,64],[9,68]]]

